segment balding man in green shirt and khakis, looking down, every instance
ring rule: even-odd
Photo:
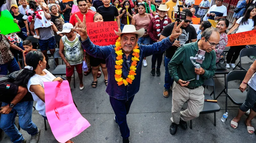
[[[172,124],[170,126],[172,135],[176,133],[179,124],[181,128],[187,129],[187,121],[197,118],[203,110],[204,87],[202,85],[204,80],[211,78],[216,70],[214,49],[219,41],[218,29],[208,28],[202,33],[200,40],[178,48],[169,62],[168,69],[175,81],[172,86]],[[195,57],[199,49],[205,51],[204,61],[202,64],[197,63],[201,68],[195,68],[190,57]],[[199,79],[191,80],[196,78],[196,75],[199,75]],[[188,101],[188,108],[180,111],[186,101]]]

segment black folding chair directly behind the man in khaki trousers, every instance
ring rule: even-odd
[[[204,94],[204,99],[215,100],[215,83],[213,78],[204,80],[204,85],[213,87],[213,98],[210,94]],[[216,126],[216,112],[218,111],[220,111],[220,106],[217,103],[205,101],[203,111],[200,114],[214,113],[214,126]],[[192,129],[192,120],[190,120],[190,129]]]

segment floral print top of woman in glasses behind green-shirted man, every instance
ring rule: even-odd
[[[216,53],[216,62],[220,60],[220,54],[225,50],[225,47],[228,44],[228,35],[226,33],[220,34],[220,42],[215,47]]]

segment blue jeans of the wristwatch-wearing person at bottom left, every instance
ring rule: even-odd
[[[7,103],[2,104],[2,107]],[[14,125],[15,117],[19,115],[20,128],[27,131],[31,136],[38,132],[37,126],[32,122],[33,101],[24,101],[13,107],[13,113],[2,114],[0,119],[0,128],[11,138],[13,143],[20,143],[24,140],[18,128]]]

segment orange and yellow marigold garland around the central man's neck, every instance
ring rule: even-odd
[[[132,84],[132,81],[134,80],[134,75],[136,75],[135,71],[136,71],[136,66],[137,66],[137,61],[140,61],[139,58],[140,58],[140,49],[138,49],[139,46],[138,44],[133,48],[133,57],[132,57],[132,64],[131,64],[131,67],[130,67],[130,71],[129,71],[129,74],[127,76],[126,79],[123,79],[122,78],[122,64],[123,64],[123,51],[122,51],[122,46],[121,46],[121,43],[120,43],[120,37],[116,40],[116,47],[115,47],[115,53],[117,54],[116,56],[116,65],[115,65],[115,79],[116,79],[116,82],[118,84],[118,86],[124,84],[124,86],[128,85],[128,83]]]

